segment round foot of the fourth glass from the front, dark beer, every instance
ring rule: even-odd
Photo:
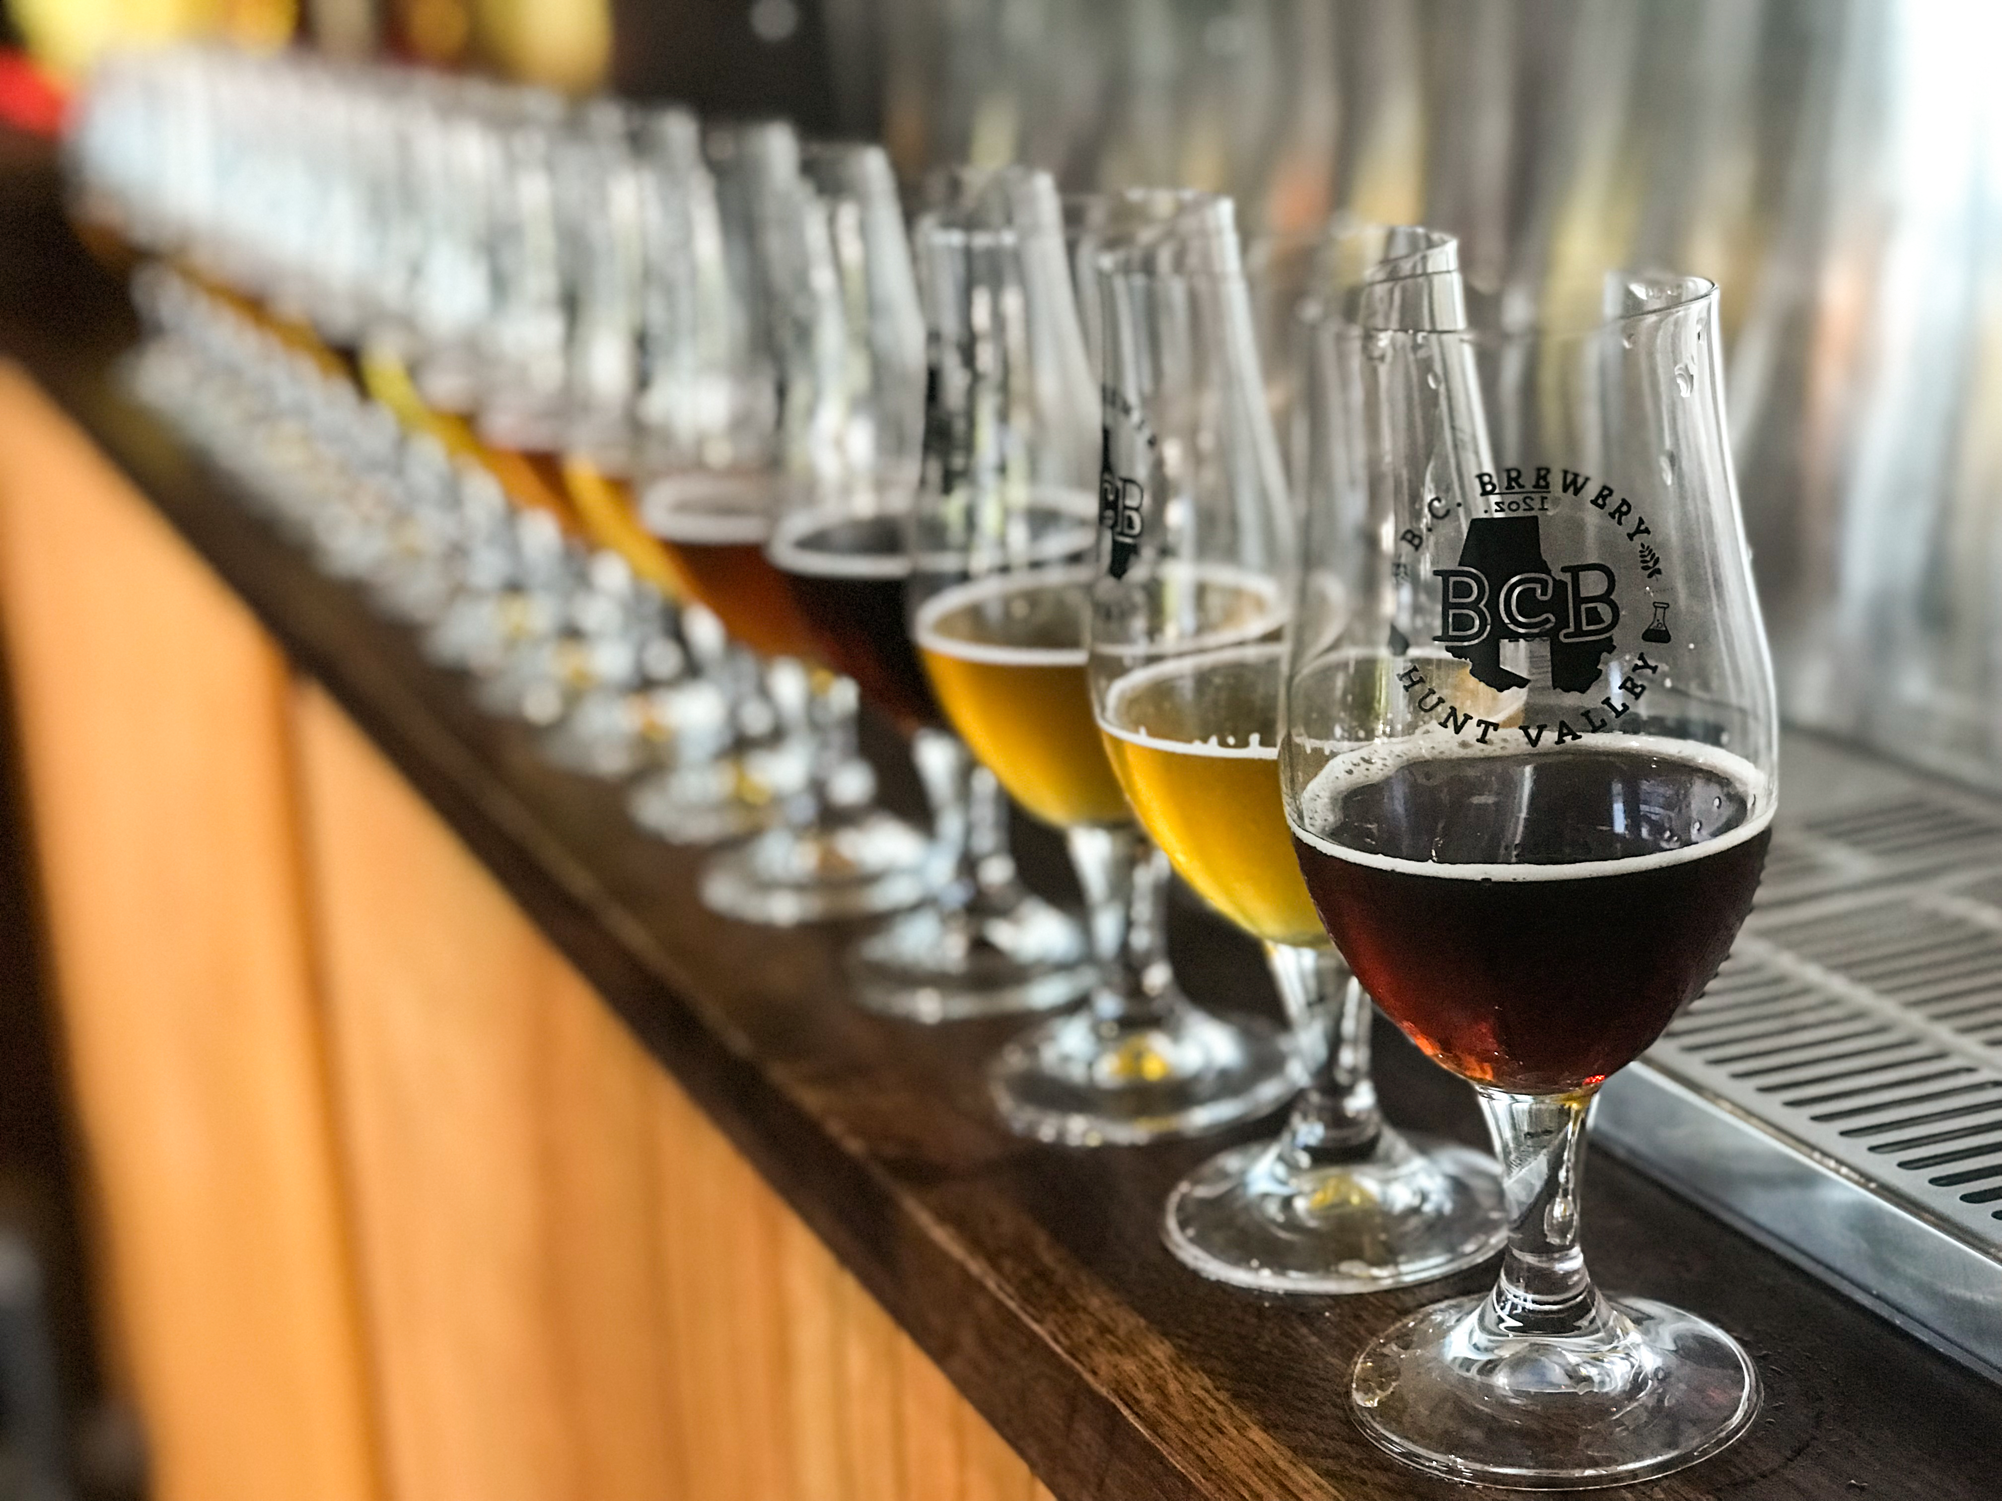
[[[849,979],[865,1011],[941,1023],[1067,1007],[1099,967],[1069,915],[1017,889],[893,919],[849,951]]]

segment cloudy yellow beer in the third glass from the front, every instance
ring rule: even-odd
[[[1091,716],[1087,580],[1079,568],[977,578],[925,600],[915,628],[953,728],[1009,797],[1059,829],[1133,819]]]

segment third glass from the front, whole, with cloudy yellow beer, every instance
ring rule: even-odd
[[[1023,807],[1065,829],[1105,965],[1087,1007],[1009,1043],[989,1079],[1025,1135],[1073,1145],[1199,1135],[1279,1105],[1299,1087],[1299,1065],[1273,1027],[1193,1007],[1167,965],[1165,861],[1135,825],[1091,716],[1103,502],[1087,486],[1101,434],[1063,210],[1045,174],[1001,174],[989,194],[993,206],[925,230],[937,400],[917,636],[967,742]],[[1201,202],[1227,226],[1227,206]],[[1113,200],[1107,218],[1117,234],[1127,218],[1151,222],[1153,208]],[[1275,586],[1261,584],[1245,596],[1263,602],[1247,640],[1281,618]]]

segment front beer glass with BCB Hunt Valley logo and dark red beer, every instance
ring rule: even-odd
[[[1602,1295],[1578,1225],[1592,1097],[1724,961],[1778,791],[1718,294],[1612,276],[1598,322],[1489,326],[1439,272],[1391,260],[1315,334],[1345,452],[1279,773],[1329,935],[1479,1095],[1510,1237],[1491,1293],[1361,1353],[1355,1415],[1461,1481],[1622,1485],[1760,1395],[1724,1331]]]

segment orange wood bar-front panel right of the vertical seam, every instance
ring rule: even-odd
[[[316,688],[298,746],[392,1495],[1029,1501],[1027,1465]],[[905,1435],[941,1461],[917,1471]]]

